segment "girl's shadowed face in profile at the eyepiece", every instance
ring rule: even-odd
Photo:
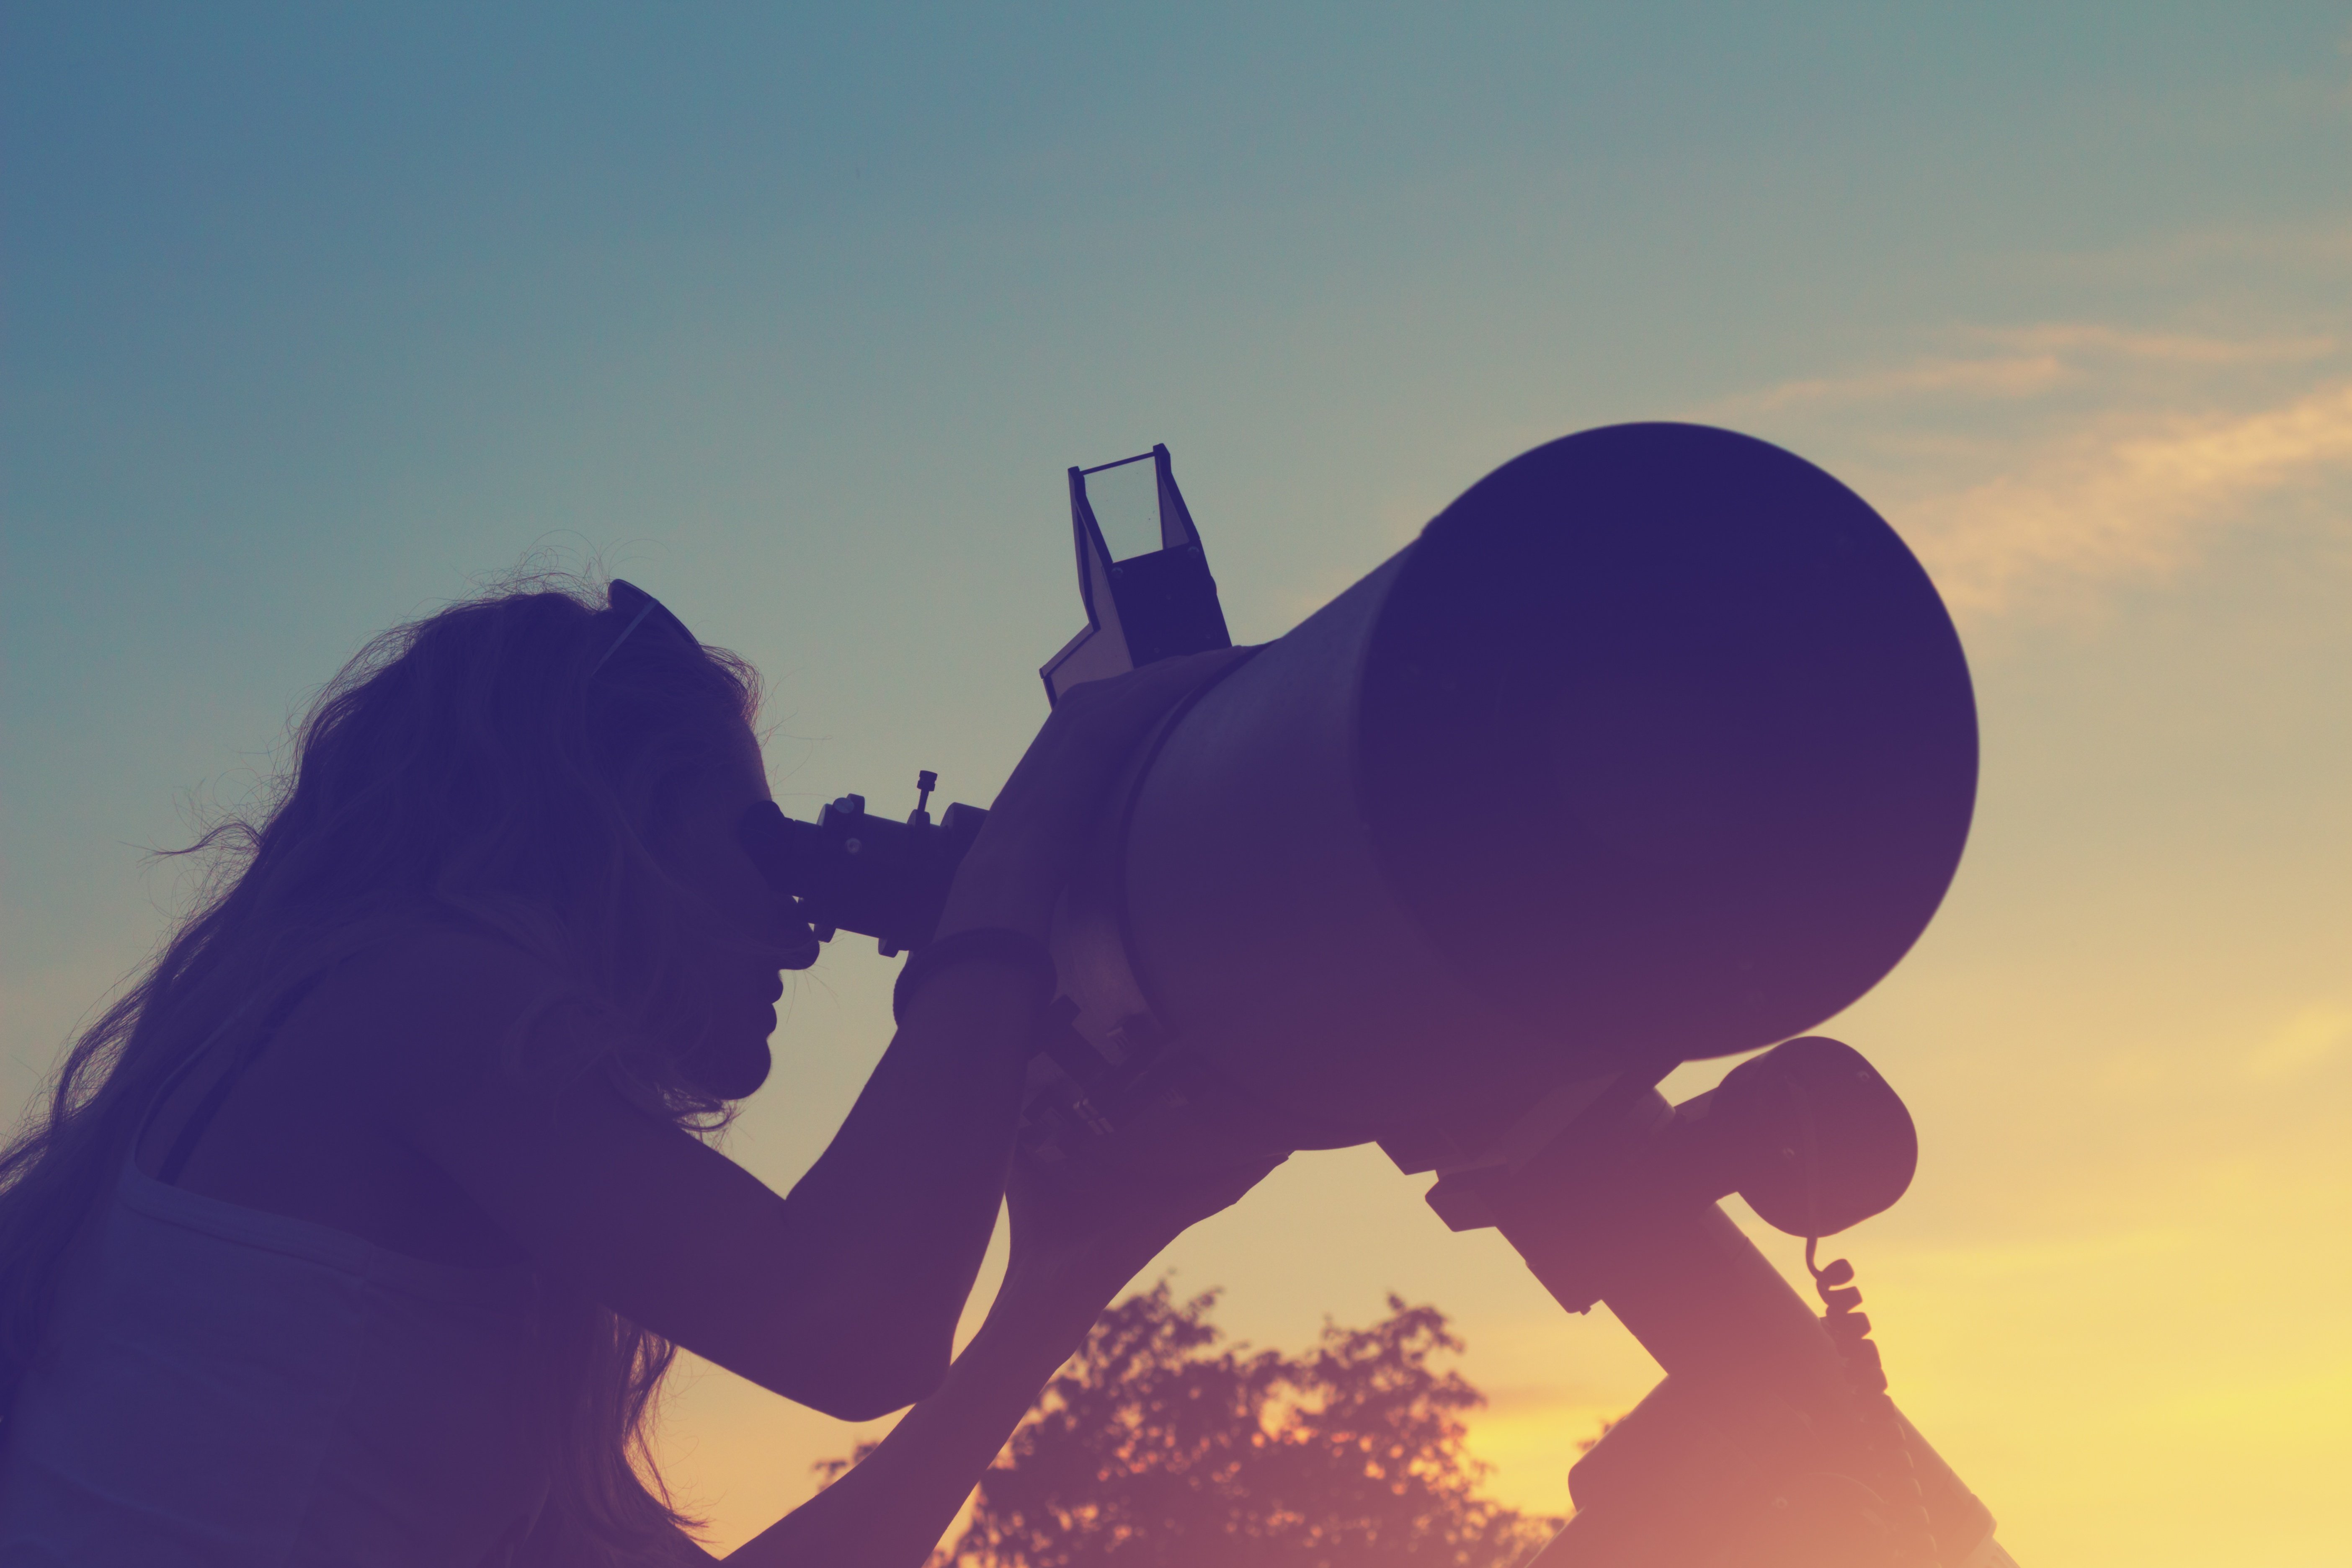
[[[689,964],[710,1009],[710,1034],[694,1058],[694,1079],[741,1100],[767,1077],[767,1037],[776,1030],[783,971],[816,961],[816,933],[793,900],[760,877],[736,823],[769,799],[760,743],[748,726],[729,736],[724,762],[694,778],[675,799],[663,863],[699,896],[708,926],[694,933]]]

